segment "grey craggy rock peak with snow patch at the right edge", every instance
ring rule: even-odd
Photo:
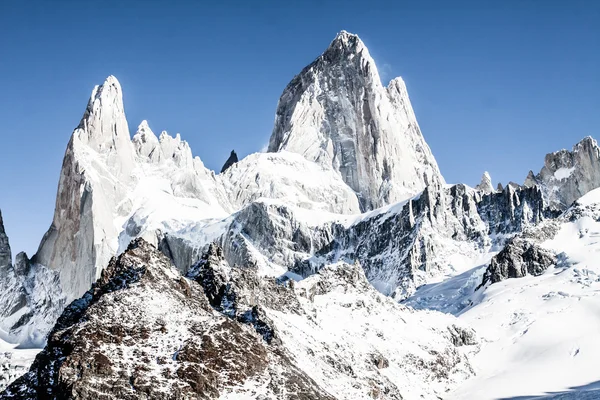
[[[544,167],[526,185],[537,184],[544,192],[548,205],[566,210],[575,200],[600,187],[600,148],[591,137],[573,146],[571,151],[560,150],[546,155]]]

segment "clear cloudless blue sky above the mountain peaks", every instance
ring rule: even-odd
[[[35,252],[65,146],[113,74],[134,131],[180,132],[219,169],[260,150],[289,80],[335,34],[407,82],[448,182],[522,182],[600,136],[600,1],[0,1],[0,208]]]

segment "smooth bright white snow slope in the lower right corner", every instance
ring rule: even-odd
[[[489,266],[423,287],[409,299],[417,308],[458,315],[482,336],[476,376],[448,398],[596,398],[586,391],[600,380],[599,221],[596,189],[490,254]],[[485,276],[494,274],[491,283]]]

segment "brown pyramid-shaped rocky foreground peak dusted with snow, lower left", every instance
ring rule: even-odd
[[[213,399],[270,380],[277,388],[268,398],[331,398],[283,349],[215,315],[202,288],[182,279],[149,244],[133,242],[65,310],[30,372],[3,398]]]

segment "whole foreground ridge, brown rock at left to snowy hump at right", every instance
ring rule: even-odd
[[[331,313],[352,322],[331,324]],[[232,269],[213,246],[186,279],[138,239],[2,398],[434,397],[472,375],[465,354],[477,343],[453,317],[384,298],[358,266],[297,287]]]

